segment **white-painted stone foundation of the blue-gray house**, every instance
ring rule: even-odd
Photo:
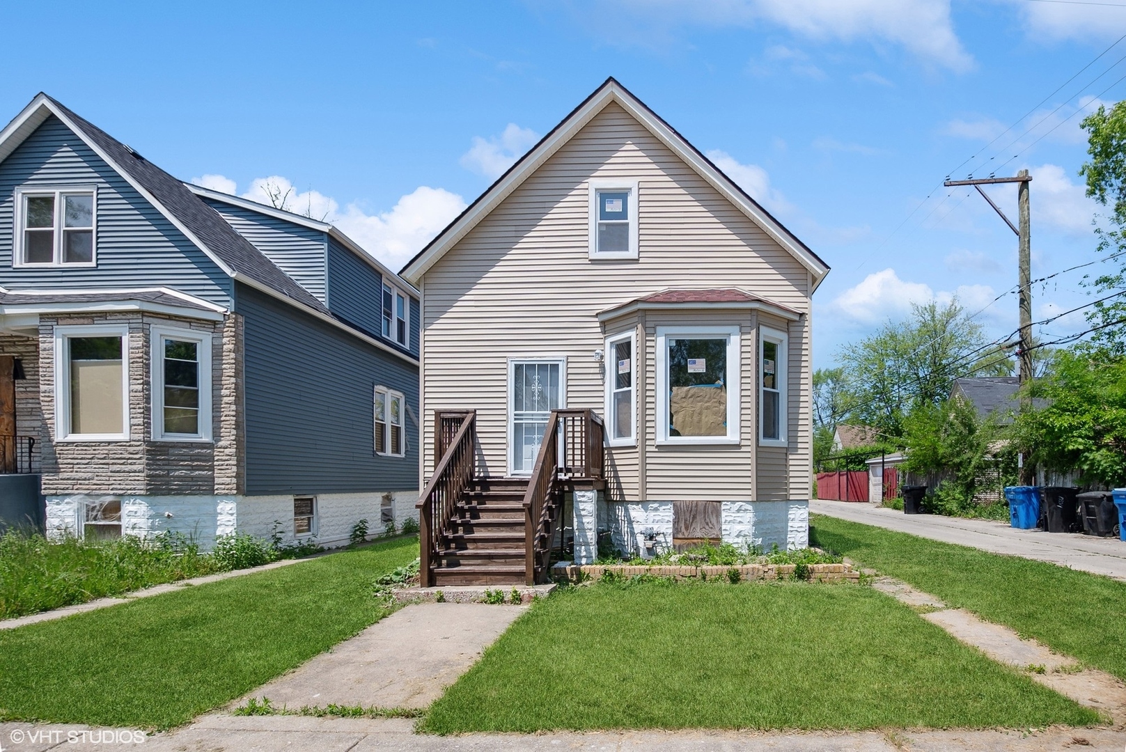
[[[391,494],[395,527],[408,519],[418,521],[414,503],[418,491],[373,491],[368,493],[316,494],[316,520],[313,540],[331,548],[348,544],[352,526],[367,519],[368,536],[383,532],[379,522],[383,496]],[[114,496],[118,498],[118,496]],[[269,538],[275,530],[283,543],[294,543],[293,495],[270,496],[138,496],[123,494],[122,534],[150,538],[166,530],[184,534],[211,549],[218,536],[249,532]],[[82,535],[84,507],[88,500],[105,499],[95,494],[47,496],[47,536]],[[307,539],[310,536],[302,536]]]

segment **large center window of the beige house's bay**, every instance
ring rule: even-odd
[[[739,326],[656,328],[656,441],[739,442]]]

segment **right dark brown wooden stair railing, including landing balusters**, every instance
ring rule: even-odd
[[[547,575],[564,483],[605,480],[604,444],[602,420],[593,410],[552,411],[524,496],[525,578],[529,585]]]

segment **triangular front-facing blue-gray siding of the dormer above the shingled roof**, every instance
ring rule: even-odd
[[[235,232],[249,240],[294,281],[325,303],[328,233],[213,198],[204,203],[218,212]]]

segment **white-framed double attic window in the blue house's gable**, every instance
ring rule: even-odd
[[[16,191],[16,267],[95,266],[93,189]]]

